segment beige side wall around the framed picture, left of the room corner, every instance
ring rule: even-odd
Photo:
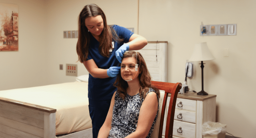
[[[0,52],[0,90],[46,85],[46,3],[42,0],[0,0],[0,3],[19,7],[19,51]]]

